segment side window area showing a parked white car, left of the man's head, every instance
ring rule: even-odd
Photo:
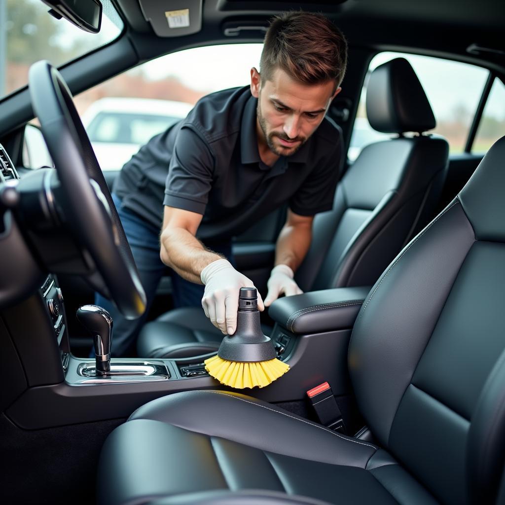
[[[139,65],[75,97],[102,170],[119,170],[202,96],[250,82],[263,44],[185,49]]]

